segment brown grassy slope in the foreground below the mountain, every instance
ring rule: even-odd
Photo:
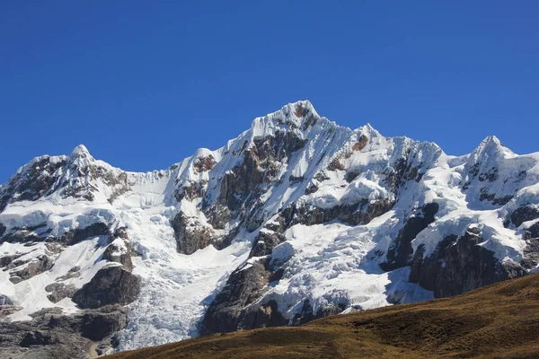
[[[114,359],[539,358],[539,275],[296,328],[199,337]]]

